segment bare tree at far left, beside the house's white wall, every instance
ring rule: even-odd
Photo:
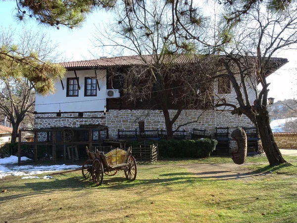
[[[8,32],[2,30],[0,38],[2,46],[12,46],[21,55],[39,55],[40,60],[43,61],[58,56],[54,54],[57,45],[53,44],[43,33],[26,31],[19,33],[16,38],[12,30]],[[15,42],[19,44],[16,45]],[[31,65],[20,65],[15,60],[11,60],[10,64],[4,60],[0,62],[0,111],[7,115],[7,120],[12,125],[11,142],[15,142],[20,123],[28,113],[34,111],[36,88],[42,93],[53,91],[51,83],[53,80],[47,80],[45,77],[43,80],[33,82],[32,78],[28,78],[35,73]],[[49,83],[43,84],[40,81],[49,81]]]

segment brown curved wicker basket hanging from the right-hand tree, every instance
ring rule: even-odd
[[[237,142],[237,151],[231,153],[235,164],[243,164],[247,158],[247,134],[244,129],[237,128],[231,133],[231,137]]]

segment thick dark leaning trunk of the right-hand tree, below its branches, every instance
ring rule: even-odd
[[[269,124],[268,112],[256,116],[257,126],[262,141],[263,150],[271,167],[287,163],[277,144],[275,143],[272,130]]]

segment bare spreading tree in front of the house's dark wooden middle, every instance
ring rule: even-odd
[[[120,78],[130,101],[153,101],[148,109],[163,112],[168,138],[173,125],[184,109],[205,109],[212,105],[211,76],[220,65],[208,56],[196,56],[208,52],[204,30],[207,18],[197,24],[201,43],[194,45],[174,32],[175,23],[171,4],[157,0],[118,2],[116,22],[104,30],[99,28],[95,36],[96,46],[127,57],[135,65],[113,70],[111,78]],[[202,18],[202,17],[201,17]],[[119,56],[117,55],[117,56]],[[123,57],[125,59],[125,57]],[[175,105],[175,106],[173,106]],[[170,114],[169,110],[176,112]]]

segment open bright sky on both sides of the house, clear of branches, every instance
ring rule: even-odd
[[[89,15],[82,28],[70,30],[66,27],[60,27],[57,30],[53,27],[40,26],[35,20],[28,20],[26,23],[15,21],[13,17],[15,14],[14,8],[15,1],[0,1],[0,25],[4,28],[10,26],[15,30],[21,29],[22,26],[28,29],[42,30],[59,45],[58,50],[64,55],[65,60],[74,61],[93,58],[89,51],[96,56],[110,56],[103,55],[98,49],[94,49],[91,41],[93,34],[96,32],[95,25],[110,22],[112,19],[110,15],[102,10]],[[290,62],[267,78],[267,82],[271,82],[269,97],[276,98],[276,101],[297,98],[297,51],[288,50],[277,56],[288,58]]]

